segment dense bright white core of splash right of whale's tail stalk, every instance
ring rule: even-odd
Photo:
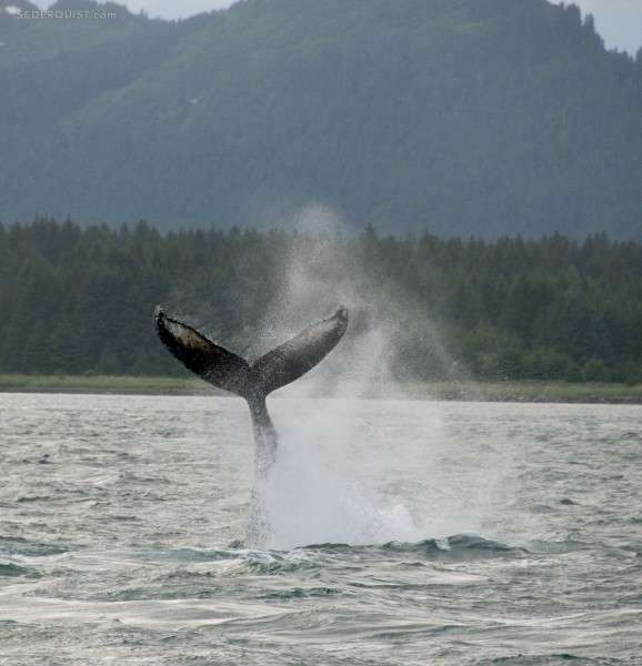
[[[355,442],[353,412],[338,401],[323,401],[323,406],[312,417],[298,414],[281,428],[277,461],[257,487],[270,525],[269,541],[261,545],[288,549],[419,538],[421,531],[407,508],[387,506],[367,483],[367,442]]]

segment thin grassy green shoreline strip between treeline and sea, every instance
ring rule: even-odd
[[[104,375],[0,374],[0,393],[87,393],[123,395],[225,395],[198,379]],[[348,395],[350,392],[348,391]],[[354,392],[362,396],[362,392]],[[583,403],[642,405],[642,384],[566,382],[407,383],[368,397],[465,402]]]

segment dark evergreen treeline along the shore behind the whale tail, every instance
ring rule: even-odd
[[[0,225],[0,372],[182,373],[156,339],[156,303],[242,351],[301,278],[293,265],[354,294],[357,329],[385,320],[398,379],[642,381],[640,243],[51,220]]]

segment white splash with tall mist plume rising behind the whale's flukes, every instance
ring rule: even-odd
[[[258,475],[254,488],[258,515],[267,528],[257,529],[253,525],[249,545],[363,545],[479,532],[484,515],[492,513],[488,506],[496,488],[506,486],[501,475],[501,456],[489,452],[481,481],[472,478],[470,472],[458,476],[457,458],[452,456],[467,460],[470,452],[454,452],[457,443],[448,441],[434,404],[427,403],[421,423],[399,424],[424,433],[421,457],[408,460],[400,452],[395,471],[399,483],[404,467],[424,468],[425,483],[418,488],[415,506],[400,502],[393,487],[382,492],[381,476],[385,471],[371,468],[370,453],[373,447],[394,447],[395,442],[385,432],[378,432],[375,423],[361,423],[360,401],[354,398],[380,395],[382,390],[402,395],[394,387],[391,372],[399,322],[392,321],[385,305],[370,302],[368,280],[360,278],[354,262],[351,279],[340,270],[347,262],[335,254],[339,244],[334,241],[343,234],[337,215],[324,208],[310,206],[301,214],[299,228],[321,242],[289,258],[285,287],[268,313],[261,345],[272,346],[293,335],[339,304],[345,304],[351,321],[358,320],[360,325],[351,325],[338,350],[320,366],[279,392],[297,396],[331,394],[340,400],[324,401],[312,414],[309,405],[294,414],[284,411],[278,420],[280,444],[274,464],[267,475]],[[410,311],[410,305],[405,307]],[[377,310],[374,315],[372,309]],[[427,330],[437,339],[431,326],[427,325]],[[441,345],[440,353],[445,355]],[[283,402],[271,401],[271,408]],[[288,403],[291,410],[292,401]],[[399,403],[391,410],[394,411],[399,411]],[[444,465],[455,468],[454,474],[449,470],[453,480],[449,487],[442,482]],[[475,461],[467,468],[477,470]]]

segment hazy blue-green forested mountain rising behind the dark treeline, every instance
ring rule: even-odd
[[[642,58],[545,0],[0,1],[0,219],[642,239]],[[101,11],[102,11],[101,10]]]

